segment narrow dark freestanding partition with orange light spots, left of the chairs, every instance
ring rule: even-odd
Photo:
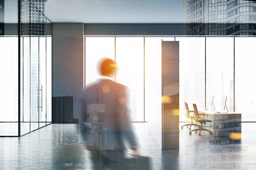
[[[162,149],[179,148],[179,42],[162,41]]]

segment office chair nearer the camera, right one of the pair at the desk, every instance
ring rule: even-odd
[[[207,119],[208,119],[208,114],[199,114],[199,113],[198,113],[198,110],[197,110],[197,107],[196,107],[196,104],[193,104],[193,107],[194,107],[194,112],[195,112],[195,122],[201,123],[201,127],[200,127],[199,129],[190,130],[190,131],[189,131],[189,134],[191,135],[191,134],[192,134],[191,132],[193,132],[193,131],[196,131],[195,133],[197,133],[197,131],[200,130],[198,135],[201,136],[201,130],[204,130],[204,131],[208,131],[209,134],[212,135],[213,133],[212,133],[211,130],[208,130],[208,129],[204,129],[204,128],[203,128],[203,124],[206,124],[206,122],[212,122],[211,120],[207,120]],[[203,119],[199,119],[199,115],[201,115],[201,116],[207,116],[207,118],[204,119],[204,117],[203,117]]]

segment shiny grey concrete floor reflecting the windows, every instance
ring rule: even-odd
[[[143,155],[152,158],[152,170],[256,169],[256,123],[242,123],[241,144],[229,145],[212,144],[208,132],[198,136],[180,129],[180,149],[164,151],[147,123],[133,124]],[[73,124],[51,124],[20,138],[0,138],[0,169],[4,170],[90,170],[88,158]]]

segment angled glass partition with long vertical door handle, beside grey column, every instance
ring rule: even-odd
[[[20,134],[51,123],[52,24],[27,1],[21,5]]]

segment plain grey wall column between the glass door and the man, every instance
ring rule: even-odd
[[[74,117],[83,88],[83,35],[83,23],[52,24],[52,96],[74,96]]]

